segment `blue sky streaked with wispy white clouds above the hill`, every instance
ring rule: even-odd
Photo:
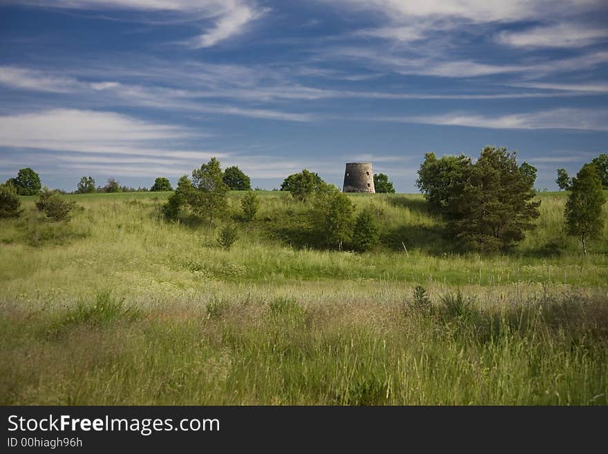
[[[604,3],[602,5],[602,3]],[[216,156],[254,187],[424,153],[517,150],[555,189],[608,150],[593,0],[0,0],[0,180],[174,183]]]

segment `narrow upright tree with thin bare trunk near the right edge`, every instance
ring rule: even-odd
[[[587,239],[598,238],[604,229],[602,205],[605,202],[598,169],[594,164],[585,164],[576,174],[576,178],[572,178],[564,211],[567,233],[580,238],[585,255]]]

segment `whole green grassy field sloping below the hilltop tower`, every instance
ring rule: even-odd
[[[24,197],[0,221],[0,403],[608,404],[608,232],[584,257],[565,193],[486,256],[421,196],[350,195],[383,241],[356,254],[259,194],[229,251],[221,223],[164,221],[169,193],[66,196],[67,224]]]

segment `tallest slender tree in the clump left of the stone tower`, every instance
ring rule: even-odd
[[[213,219],[221,217],[226,211],[226,197],[228,187],[223,180],[222,168],[216,158],[211,158],[200,169],[192,171],[193,191],[190,192],[189,205],[199,216],[209,218],[209,225]]]

